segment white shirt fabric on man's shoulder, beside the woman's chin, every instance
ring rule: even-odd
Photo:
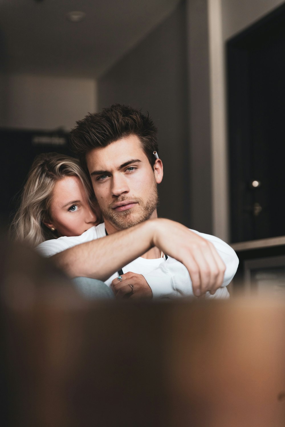
[[[99,239],[105,235],[105,225],[102,223],[89,228],[80,236],[63,236],[58,239],[46,240],[36,247],[36,251],[44,257],[51,257],[52,255],[65,251],[66,249],[70,249],[73,246]]]

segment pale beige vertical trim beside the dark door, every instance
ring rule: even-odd
[[[229,240],[229,173],[222,9],[220,0],[208,0],[210,117],[212,152],[212,221],[215,236]]]

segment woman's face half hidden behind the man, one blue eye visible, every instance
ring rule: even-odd
[[[55,228],[59,237],[79,236],[98,224],[78,176],[65,176],[56,182],[48,221],[45,225]]]

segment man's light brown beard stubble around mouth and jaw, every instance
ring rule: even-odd
[[[139,212],[132,212],[133,208],[127,209],[126,211],[117,212],[112,208],[114,203],[123,202],[124,200],[129,199],[138,203]],[[150,195],[150,198],[146,202],[144,202],[144,200],[140,197],[118,197],[118,199],[109,203],[109,206],[106,210],[102,209],[101,207],[100,208],[105,220],[111,222],[119,230],[125,230],[126,228],[132,227],[133,225],[150,219],[153,212],[156,210],[158,202],[159,196],[157,188],[155,187]]]

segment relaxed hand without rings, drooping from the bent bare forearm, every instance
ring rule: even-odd
[[[168,233],[165,232],[165,230]],[[171,236],[171,238],[169,238]],[[194,295],[212,295],[223,283],[226,266],[214,245],[178,222],[159,219],[153,243],[188,269]]]

